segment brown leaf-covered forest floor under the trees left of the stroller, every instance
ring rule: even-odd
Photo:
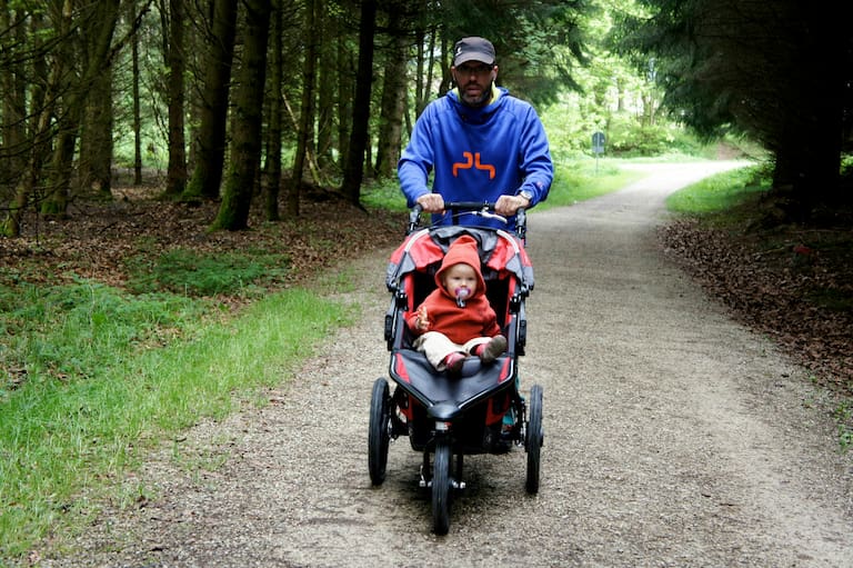
[[[0,268],[31,282],[76,275],[122,287],[131,256],[154,262],[175,249],[199,255],[257,251],[285,253],[288,283],[297,285],[310,282],[319,270],[399,242],[405,228],[400,213],[367,212],[330,199],[301,203],[300,216],[293,219],[267,222],[261,211],[253,210],[249,230],[210,231],[218,203],[162,201],[152,191],[117,189],[114,201],[76,201],[63,219],[28,216],[20,238],[0,238]],[[377,281],[382,282],[381,275]]]

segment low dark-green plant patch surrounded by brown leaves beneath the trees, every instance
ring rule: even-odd
[[[248,252],[248,253],[247,253]],[[144,256],[128,260],[134,292],[170,291],[188,296],[249,292],[264,282],[283,279],[289,260],[285,255],[264,251],[198,255],[185,249],[163,253],[153,265]]]

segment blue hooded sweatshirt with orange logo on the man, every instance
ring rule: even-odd
[[[530,207],[548,197],[554,169],[548,137],[533,107],[492,87],[492,101],[471,108],[458,91],[431,102],[414,124],[409,146],[398,165],[400,187],[409,207],[432,191],[444,201],[491,201],[522,190],[533,196]],[[449,216],[433,222],[450,223]],[[459,225],[514,228],[496,220],[460,219]]]

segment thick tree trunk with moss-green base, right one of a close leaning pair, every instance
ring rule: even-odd
[[[261,155],[263,83],[267,71],[267,39],[270,0],[245,0],[245,42],[240,89],[237,93],[231,166],[225,177],[219,215],[213,229],[243,230],[249,227],[254,175]]]

